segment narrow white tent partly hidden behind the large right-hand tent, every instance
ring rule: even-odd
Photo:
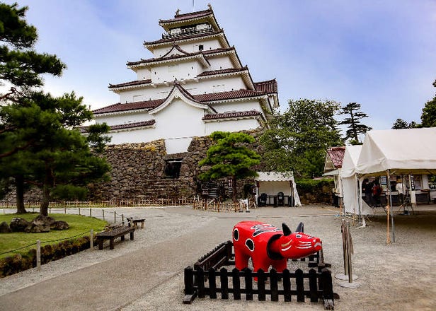
[[[347,146],[344,160],[340,170],[340,180],[343,192],[343,204],[345,213],[355,215],[368,215],[373,213],[368,204],[362,200],[360,189],[362,186],[357,178],[356,165],[359,160],[362,146]]]

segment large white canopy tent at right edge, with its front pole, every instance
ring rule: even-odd
[[[368,131],[357,161],[356,172],[361,179],[367,175],[386,175],[388,185],[391,174],[435,175],[436,127]],[[390,187],[387,190],[389,196]],[[391,223],[395,242],[393,218]],[[389,243],[389,238],[387,242]]]

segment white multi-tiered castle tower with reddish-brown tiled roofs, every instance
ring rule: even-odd
[[[211,6],[159,25],[162,37],[144,42],[153,57],[127,62],[136,80],[109,85],[120,102],[93,111],[111,143],[164,139],[166,153],[183,153],[195,136],[265,126],[279,106],[277,82],[253,81]]]

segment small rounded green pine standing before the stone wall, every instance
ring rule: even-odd
[[[230,177],[233,182],[233,201],[236,202],[236,181],[257,176],[251,168],[260,163],[260,155],[248,148],[255,139],[248,134],[224,131],[214,131],[210,137],[214,145],[207,150],[206,158],[198,163],[200,166],[209,165],[210,168],[199,177],[201,180]]]

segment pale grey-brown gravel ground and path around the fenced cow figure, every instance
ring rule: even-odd
[[[105,211],[108,215],[114,209]],[[115,250],[88,250],[45,264],[39,272],[30,269],[1,278],[0,310],[323,310],[321,303],[258,302],[256,296],[249,302],[196,298],[183,305],[183,268],[230,240],[233,225],[247,218],[277,226],[285,222],[291,229],[302,221],[306,233],[323,240],[332,274],[343,274],[341,218],[330,206],[267,207],[251,213],[188,206],[116,211],[146,218],[134,241],[127,238],[116,242]],[[333,291],[340,295],[335,310],[436,310],[435,223],[435,206],[413,216],[396,216],[396,242],[391,245],[386,245],[383,212],[368,218],[365,228],[352,226],[353,273],[360,287],[343,288],[343,281],[334,278]],[[296,269],[294,265],[290,269]],[[126,280],[130,286],[123,283]],[[35,298],[45,293],[50,301]]]

